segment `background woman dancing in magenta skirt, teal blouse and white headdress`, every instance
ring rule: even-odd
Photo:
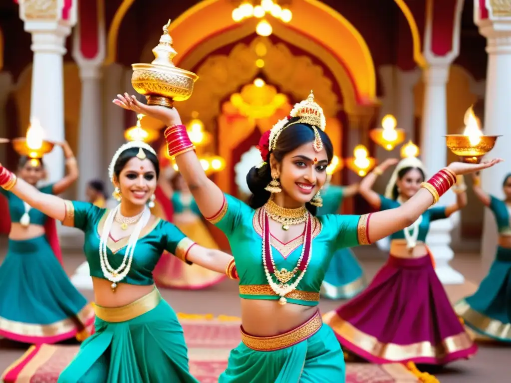
[[[380,211],[396,211],[415,201],[425,185],[422,162],[408,157],[394,169],[385,196],[374,192],[376,178],[396,162],[384,161],[360,184],[360,194]],[[451,170],[450,165],[433,179],[454,184],[460,172]],[[326,322],[345,350],[372,363],[432,365],[468,358],[477,351],[454,313],[425,245],[432,221],[446,219],[467,204],[465,190],[458,184],[453,190],[455,203],[424,209],[406,227],[394,231],[389,258],[367,289],[327,314]],[[389,224],[393,220],[390,217]]]

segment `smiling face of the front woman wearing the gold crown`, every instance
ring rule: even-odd
[[[270,160],[271,161],[271,160]],[[287,153],[280,163],[272,157],[272,175],[281,182],[283,192],[293,201],[310,202],[327,180],[327,151],[316,152],[312,142]]]

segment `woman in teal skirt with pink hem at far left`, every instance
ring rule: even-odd
[[[59,145],[66,157],[67,175],[54,184],[36,189],[35,185],[45,177],[42,159],[19,160],[19,179],[49,198],[57,198],[54,195],[64,192],[78,178],[71,148],[67,142]],[[2,172],[2,184],[16,179],[7,169]],[[0,266],[0,335],[32,344],[75,337],[83,340],[94,324],[94,310],[62,268],[55,221],[39,206],[32,208],[8,190],[9,187],[0,188],[9,205],[2,217],[10,217],[11,221],[7,255]]]

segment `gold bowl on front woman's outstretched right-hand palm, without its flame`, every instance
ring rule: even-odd
[[[479,163],[481,157],[493,149],[497,137],[500,136],[479,136],[475,143],[474,138],[468,135],[449,134],[446,142],[451,152],[460,156],[463,162]]]

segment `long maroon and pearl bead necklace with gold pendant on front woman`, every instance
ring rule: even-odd
[[[281,270],[277,270],[275,266],[275,261],[273,260],[273,256],[271,254],[271,243],[270,243],[270,229],[269,229],[269,221],[268,221],[268,213],[266,210],[264,211],[263,217],[263,265],[264,265],[264,273],[266,275],[266,279],[268,280],[268,284],[271,287],[271,290],[277,295],[280,295],[280,299],[278,302],[280,304],[286,304],[286,294],[296,290],[298,284],[301,279],[304,277],[305,272],[307,271],[307,267],[309,266],[309,262],[311,260],[312,254],[312,220],[309,214],[304,231],[304,245],[301,248],[300,258],[296,264],[296,267],[292,271],[287,271],[285,268]],[[300,273],[296,280],[288,284],[288,282],[295,277],[297,273]],[[273,280],[272,274],[275,275],[275,278],[278,282]]]

